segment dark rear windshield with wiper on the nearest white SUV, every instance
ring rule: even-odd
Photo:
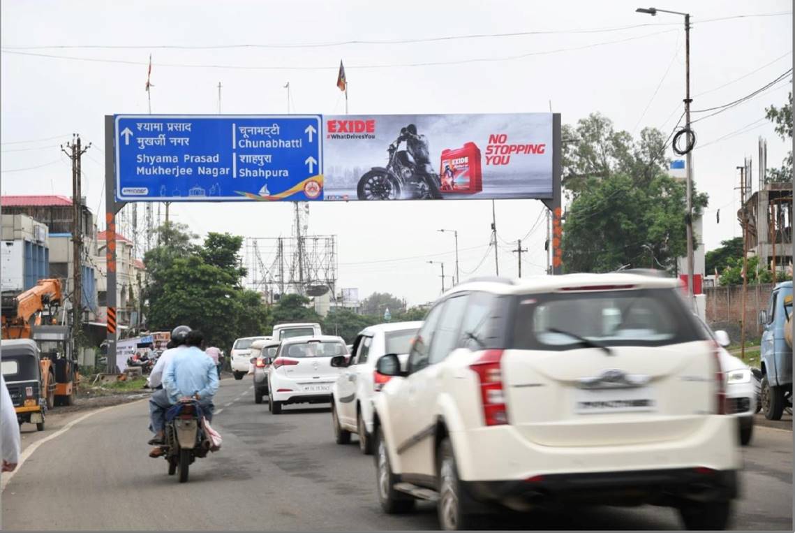
[[[708,340],[690,315],[673,289],[528,294],[516,299],[513,344],[518,349],[570,350],[584,344],[574,336],[607,346]]]

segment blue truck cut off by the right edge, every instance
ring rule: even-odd
[[[762,410],[768,420],[780,420],[793,407],[793,282],[778,283],[767,309],[759,311],[765,329],[759,360],[762,364]]]

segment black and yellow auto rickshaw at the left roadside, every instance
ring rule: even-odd
[[[0,342],[0,371],[17,412],[17,422],[20,426],[22,422],[36,424],[37,431],[44,431],[48,391],[44,390],[39,361],[39,348],[33,340]]]

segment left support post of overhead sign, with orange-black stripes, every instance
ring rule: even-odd
[[[105,115],[105,268],[107,270],[107,373],[116,369],[116,213],[126,204],[116,201],[116,138],[113,115]]]

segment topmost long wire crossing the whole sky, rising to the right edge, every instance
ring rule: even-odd
[[[792,14],[792,11],[778,11],[774,13],[739,14],[721,18],[707,18],[703,21],[693,21],[692,25],[710,22],[727,21],[736,18],[778,17]],[[328,41],[315,43],[266,43],[266,44],[237,44],[237,45],[10,45],[6,49],[14,50],[43,50],[43,49],[114,49],[114,50],[141,50],[141,49],[176,49],[176,50],[223,50],[223,49],[303,49],[303,48],[331,48],[348,45],[408,45],[440,41],[460,41],[466,39],[492,39],[503,37],[527,37],[531,35],[560,35],[578,33],[611,33],[626,31],[627,29],[646,28],[654,26],[678,26],[678,22],[656,22],[646,24],[633,24],[626,26],[608,26],[603,28],[576,28],[576,29],[549,29],[533,30],[526,32],[509,33],[470,33],[464,35],[441,35],[436,37],[422,37],[417,39],[378,39],[378,40],[352,40]],[[335,67],[336,68],[336,67]]]

